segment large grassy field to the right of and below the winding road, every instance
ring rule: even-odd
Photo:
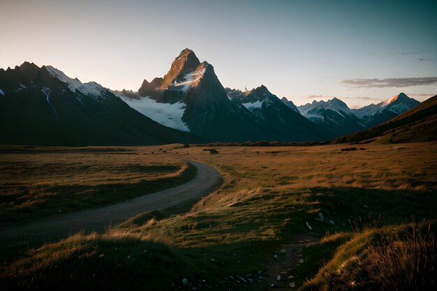
[[[75,284],[84,290],[269,290],[272,283],[284,290],[290,283],[290,290],[378,290],[378,258],[405,249],[389,246],[417,246],[417,253],[435,247],[437,143],[341,147],[216,147],[219,154],[212,155],[204,147],[169,145],[132,148],[135,154],[118,160],[107,156],[118,154],[99,154],[94,158],[114,165],[127,163],[124,156],[136,157],[137,165],[202,161],[221,172],[223,185],[200,201],[31,250],[3,264],[0,279],[6,290],[73,290]],[[32,155],[50,161],[53,154]],[[4,155],[15,162],[21,154]],[[64,154],[62,163],[75,155]],[[119,172],[113,175],[118,179]],[[302,252],[283,256],[281,249],[297,243],[306,245]],[[276,261],[281,269],[272,267]],[[433,270],[421,273],[433,276]]]

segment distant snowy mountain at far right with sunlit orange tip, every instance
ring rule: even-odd
[[[362,119],[364,126],[369,128],[383,124],[385,121],[397,117],[399,114],[410,110],[418,104],[420,104],[419,101],[400,93],[378,104],[367,105],[360,109],[352,110],[352,112],[355,116]]]

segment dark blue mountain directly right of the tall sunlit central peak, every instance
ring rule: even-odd
[[[238,107],[251,111],[259,124],[279,141],[327,140],[334,135],[292,110],[264,85],[251,91],[226,88],[228,98]]]

